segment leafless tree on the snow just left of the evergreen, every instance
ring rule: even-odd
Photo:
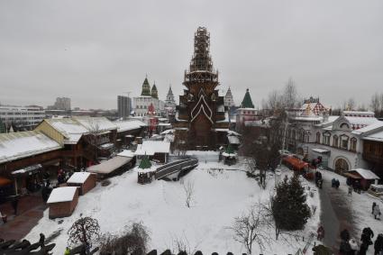
[[[271,240],[269,236],[269,217],[265,207],[259,202],[251,206],[250,210],[234,219],[231,229],[234,240],[241,242],[249,254],[252,246],[257,243],[260,250],[265,249],[265,244]]]

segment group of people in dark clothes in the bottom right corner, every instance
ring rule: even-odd
[[[339,248],[339,253],[341,255],[366,255],[367,250],[369,250],[369,245],[374,245],[374,255],[383,254],[383,234],[379,233],[375,242],[372,242],[374,237],[374,232],[368,227],[364,228],[360,236],[360,247],[358,247],[358,242],[351,238],[350,232],[348,230],[343,230],[341,232],[341,246]]]

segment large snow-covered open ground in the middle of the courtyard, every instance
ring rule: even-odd
[[[239,168],[238,170],[233,170]],[[218,170],[221,169],[221,170]],[[282,175],[291,175],[291,171],[282,169]],[[101,232],[120,232],[125,225],[142,222],[150,230],[150,249],[160,252],[176,249],[175,241],[183,241],[187,249],[202,250],[204,254],[216,251],[225,254],[246,252],[241,243],[233,240],[233,231],[229,227],[234,217],[240,216],[251,205],[259,201],[266,202],[274,190],[274,177],[269,175],[266,190],[260,189],[253,178],[247,178],[243,165],[224,166],[221,163],[201,162],[197,168],[177,182],[162,180],[148,185],[137,184],[137,173],[129,171],[120,177],[111,178],[111,185],[97,185],[86,196],[81,196],[78,206],[70,217],[50,220],[48,210],[36,227],[26,236],[37,241],[39,233],[49,236],[62,228],[54,254],[63,254],[66,247],[68,228],[80,214],[96,218]],[[193,182],[195,192],[192,206],[186,206],[183,183]],[[317,206],[315,214],[309,219],[300,235],[316,232],[320,208],[315,186],[304,182],[314,189],[314,197],[307,196],[310,205]],[[274,238],[274,230],[270,229]],[[301,238],[300,238],[301,240]],[[287,254],[303,248],[303,241],[272,241],[266,250],[260,250],[257,244],[253,254]]]

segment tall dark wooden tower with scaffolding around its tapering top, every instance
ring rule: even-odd
[[[213,68],[209,50],[210,34],[205,27],[198,27],[175,123],[176,140],[186,140],[189,150],[210,150],[226,143],[229,119],[223,96],[215,89],[219,86],[218,71]]]

